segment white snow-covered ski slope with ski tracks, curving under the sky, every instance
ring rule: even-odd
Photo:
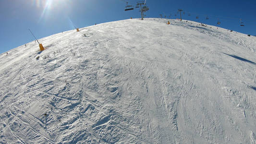
[[[0,143],[256,144],[256,37],[166,23],[98,24],[1,54]]]

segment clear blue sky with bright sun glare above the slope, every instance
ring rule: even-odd
[[[138,0],[0,0],[0,53],[34,41],[28,28],[39,39],[73,26],[139,18],[139,9],[124,11],[125,1],[135,5]],[[177,9],[183,9],[183,19],[211,25],[219,19],[220,27],[256,35],[256,0],[146,0],[146,5],[146,17],[176,19]]]

